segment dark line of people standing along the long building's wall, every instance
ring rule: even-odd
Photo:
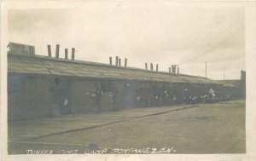
[[[109,95],[112,99],[112,109],[119,107],[147,107],[147,106],[173,106],[178,104],[197,104],[206,99],[215,99],[214,89],[205,89],[203,92],[195,92],[191,89],[156,89],[156,88],[124,88],[118,91],[116,86],[112,87]],[[102,111],[102,88],[96,85],[95,101],[98,112]]]

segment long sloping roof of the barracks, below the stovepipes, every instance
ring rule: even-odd
[[[168,83],[217,83],[208,78],[151,72],[138,68],[110,66],[79,60],[64,60],[47,56],[8,56],[8,72],[73,76],[79,78],[110,78],[139,81],[159,81]]]

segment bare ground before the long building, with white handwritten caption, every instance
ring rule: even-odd
[[[201,104],[193,107],[154,107],[148,115],[147,108],[123,112],[90,114],[96,120],[108,118],[109,123],[93,128],[79,129],[42,137],[21,138],[15,133],[15,123],[9,124],[9,153],[47,152],[52,153],[244,153],[246,152],[245,101],[228,101],[216,104]],[[121,114],[120,114],[121,113]],[[126,113],[126,114],[125,114]],[[129,113],[129,114],[127,114]],[[138,115],[138,113],[140,113]],[[113,117],[111,117],[113,115]],[[79,118],[86,122],[87,115]],[[108,117],[109,116],[109,117]],[[115,116],[115,117],[114,117]],[[119,116],[117,120],[117,116]],[[124,118],[122,118],[122,116]],[[138,117],[132,117],[138,116]],[[76,116],[67,116],[76,120]],[[61,119],[65,119],[61,118]],[[67,120],[68,120],[67,119]],[[77,118],[78,119],[78,118]],[[33,128],[47,122],[49,127],[55,119],[44,118]],[[102,120],[106,122],[105,120]],[[62,126],[72,129],[76,122]],[[16,123],[18,124],[18,123]],[[91,123],[93,124],[93,122]],[[56,124],[57,125],[57,124]],[[19,128],[29,128],[26,124]],[[47,125],[44,129],[47,130]],[[55,126],[57,129],[58,127]],[[12,133],[13,132],[13,133]],[[27,151],[31,150],[31,151]],[[39,151],[40,150],[40,151]],[[45,153],[47,153],[45,152]]]

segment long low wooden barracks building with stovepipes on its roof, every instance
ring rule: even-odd
[[[48,49],[48,56],[40,56],[32,46],[9,43],[9,120],[194,104],[238,93],[235,86],[208,78],[131,68],[127,60],[125,66],[74,60],[74,49],[67,60],[67,52],[59,58],[59,45],[55,57]]]

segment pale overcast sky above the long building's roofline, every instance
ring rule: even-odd
[[[212,79],[240,78],[245,70],[245,19],[242,8],[172,8],[158,5],[102,5],[84,9],[9,10],[9,42],[36,47],[76,48],[76,60],[108,63],[109,56],[128,59],[128,66],[159,64],[168,72]],[[124,61],[124,60],[123,60]],[[155,67],[155,66],[154,66]]]

